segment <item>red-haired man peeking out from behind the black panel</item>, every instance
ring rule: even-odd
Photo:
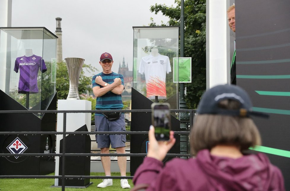
[[[229,22],[230,29],[233,32],[236,32],[236,22],[235,22],[235,4],[229,7],[227,9],[227,20]],[[237,78],[236,78],[236,50],[234,52],[234,55],[232,57],[231,62],[231,84],[236,85],[237,84]]]

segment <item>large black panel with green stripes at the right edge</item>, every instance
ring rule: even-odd
[[[290,190],[290,2],[236,0],[237,85],[251,96],[262,136],[262,152]],[[276,149],[276,150],[275,150]]]

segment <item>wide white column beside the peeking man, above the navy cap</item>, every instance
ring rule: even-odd
[[[225,0],[206,1],[206,88],[230,82],[230,47]]]

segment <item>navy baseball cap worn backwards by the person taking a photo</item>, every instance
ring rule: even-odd
[[[219,102],[232,99],[240,103],[238,110],[229,110],[219,107]],[[234,85],[219,85],[207,90],[201,97],[197,108],[198,114],[220,114],[240,117],[255,115],[268,118],[269,115],[252,111],[252,102],[245,90]]]

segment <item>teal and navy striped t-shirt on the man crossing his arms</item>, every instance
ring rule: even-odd
[[[105,73],[101,72],[101,73],[93,76],[93,79],[92,79],[93,87],[99,86],[99,87],[103,88],[103,86],[101,86],[95,82],[95,79],[97,76],[101,76],[103,81],[108,83],[108,84],[112,84],[114,82],[115,78],[120,78],[121,84],[124,86],[124,77],[122,74],[117,74],[114,72],[109,73],[109,74],[105,74]],[[104,94],[101,97],[97,97],[96,109],[117,110],[117,109],[122,109],[123,107],[124,107],[124,105],[122,102],[122,96],[114,94],[111,91],[107,92],[106,94]],[[103,114],[95,113],[95,115],[103,115]]]

